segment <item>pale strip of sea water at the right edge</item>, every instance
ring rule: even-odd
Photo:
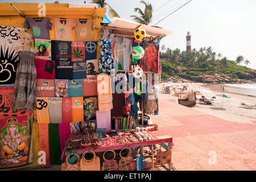
[[[246,94],[256,97],[256,84],[225,84],[229,92]]]

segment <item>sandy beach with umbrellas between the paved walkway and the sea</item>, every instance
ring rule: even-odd
[[[256,110],[255,109],[245,109],[240,106],[241,102],[245,102],[246,105],[255,105],[256,97],[247,96],[245,94],[236,94],[228,91],[229,86],[224,84],[203,84],[203,83],[186,83],[189,90],[210,90],[212,93],[202,93],[203,96],[207,97],[212,105],[201,104],[197,100],[197,104],[192,108],[199,110],[203,113],[214,115],[215,117],[225,119],[232,122],[241,122],[241,123],[252,123],[251,121],[256,121]],[[225,86],[224,93],[228,94],[230,98],[223,98],[216,96],[218,93],[223,93],[221,86]],[[196,86],[200,86],[196,88]],[[212,97],[215,96],[215,99]],[[201,95],[196,96],[197,99],[201,98]]]

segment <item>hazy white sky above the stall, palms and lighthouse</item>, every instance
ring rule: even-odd
[[[145,0],[153,6],[152,23],[154,25],[172,11],[189,0]],[[6,1],[0,2],[55,2],[53,1]],[[60,3],[79,2],[61,1]],[[91,2],[86,0],[87,3]],[[130,15],[138,15],[135,7],[144,10],[139,0],[106,0],[123,19],[133,20]],[[192,0],[187,5],[158,23],[164,29],[174,33],[163,38],[161,45],[171,49],[186,48],[187,32],[191,32],[191,46],[213,48],[216,53],[236,60],[238,55],[248,59],[250,68],[256,69],[256,1],[255,0]]]

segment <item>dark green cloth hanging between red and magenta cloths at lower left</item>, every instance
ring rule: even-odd
[[[51,164],[61,164],[59,123],[49,123],[49,151]]]

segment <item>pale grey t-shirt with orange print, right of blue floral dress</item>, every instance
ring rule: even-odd
[[[129,70],[130,55],[133,51],[131,41],[126,38],[114,38],[112,40],[115,72],[118,70]]]

